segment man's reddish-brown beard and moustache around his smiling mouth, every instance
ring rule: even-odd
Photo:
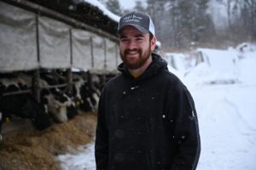
[[[135,61],[130,61],[127,57],[127,54],[129,54],[129,52],[131,51],[137,52],[139,54],[138,59],[136,59]],[[141,68],[147,62],[150,55],[151,55],[151,45],[149,45],[148,49],[144,53],[141,48],[125,49],[124,53],[120,51],[121,59],[123,60],[127,68],[130,70],[136,70]]]

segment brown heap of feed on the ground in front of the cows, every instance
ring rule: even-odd
[[[2,170],[59,170],[56,156],[90,143],[95,136],[96,113],[80,113],[43,131],[27,126],[0,141]]]

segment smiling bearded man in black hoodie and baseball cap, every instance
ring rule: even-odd
[[[97,170],[191,170],[200,156],[194,101],[155,48],[154,24],[132,12],[119,20],[121,75],[102,89]]]

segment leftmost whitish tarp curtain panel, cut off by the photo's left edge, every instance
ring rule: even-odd
[[[38,68],[35,16],[0,2],[0,71]]]

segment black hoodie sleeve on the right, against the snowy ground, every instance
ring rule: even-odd
[[[172,111],[175,111],[174,144],[176,154],[172,170],[195,170],[201,152],[201,141],[195,104],[188,89],[177,88]]]

